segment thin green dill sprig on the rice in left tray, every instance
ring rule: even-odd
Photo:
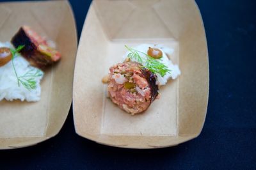
[[[12,67],[13,67],[13,70],[17,77],[18,86],[20,87],[20,84],[22,84],[22,86],[24,86],[24,88],[31,91],[31,89],[36,88],[36,79],[35,78],[42,76],[43,73],[41,70],[32,68],[28,72],[24,73],[24,75],[19,76],[17,74],[13,59],[15,58],[16,54],[19,53],[20,50],[22,50],[23,48],[24,48],[24,45],[19,45],[19,47],[17,47],[17,49],[10,49],[10,51],[12,52]]]

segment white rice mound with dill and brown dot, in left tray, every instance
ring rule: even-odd
[[[29,65],[19,50],[10,43],[0,43],[0,101],[21,100],[36,102],[40,100],[40,80],[44,72]]]

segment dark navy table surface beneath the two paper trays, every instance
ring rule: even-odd
[[[80,36],[91,1],[70,3]],[[199,137],[156,150],[113,148],[76,135],[70,109],[56,137],[0,151],[0,169],[256,169],[256,1],[196,3],[210,65],[209,105]]]

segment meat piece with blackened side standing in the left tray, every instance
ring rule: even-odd
[[[20,53],[31,65],[38,68],[44,69],[61,58],[60,52],[50,47],[51,44],[49,42],[28,26],[20,27],[11,42],[15,48],[19,47],[19,45],[25,45],[24,49],[20,50]]]

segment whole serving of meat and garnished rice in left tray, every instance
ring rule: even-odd
[[[0,101],[40,100],[43,68],[56,63],[60,52],[28,26],[20,27],[10,42],[0,42]]]

